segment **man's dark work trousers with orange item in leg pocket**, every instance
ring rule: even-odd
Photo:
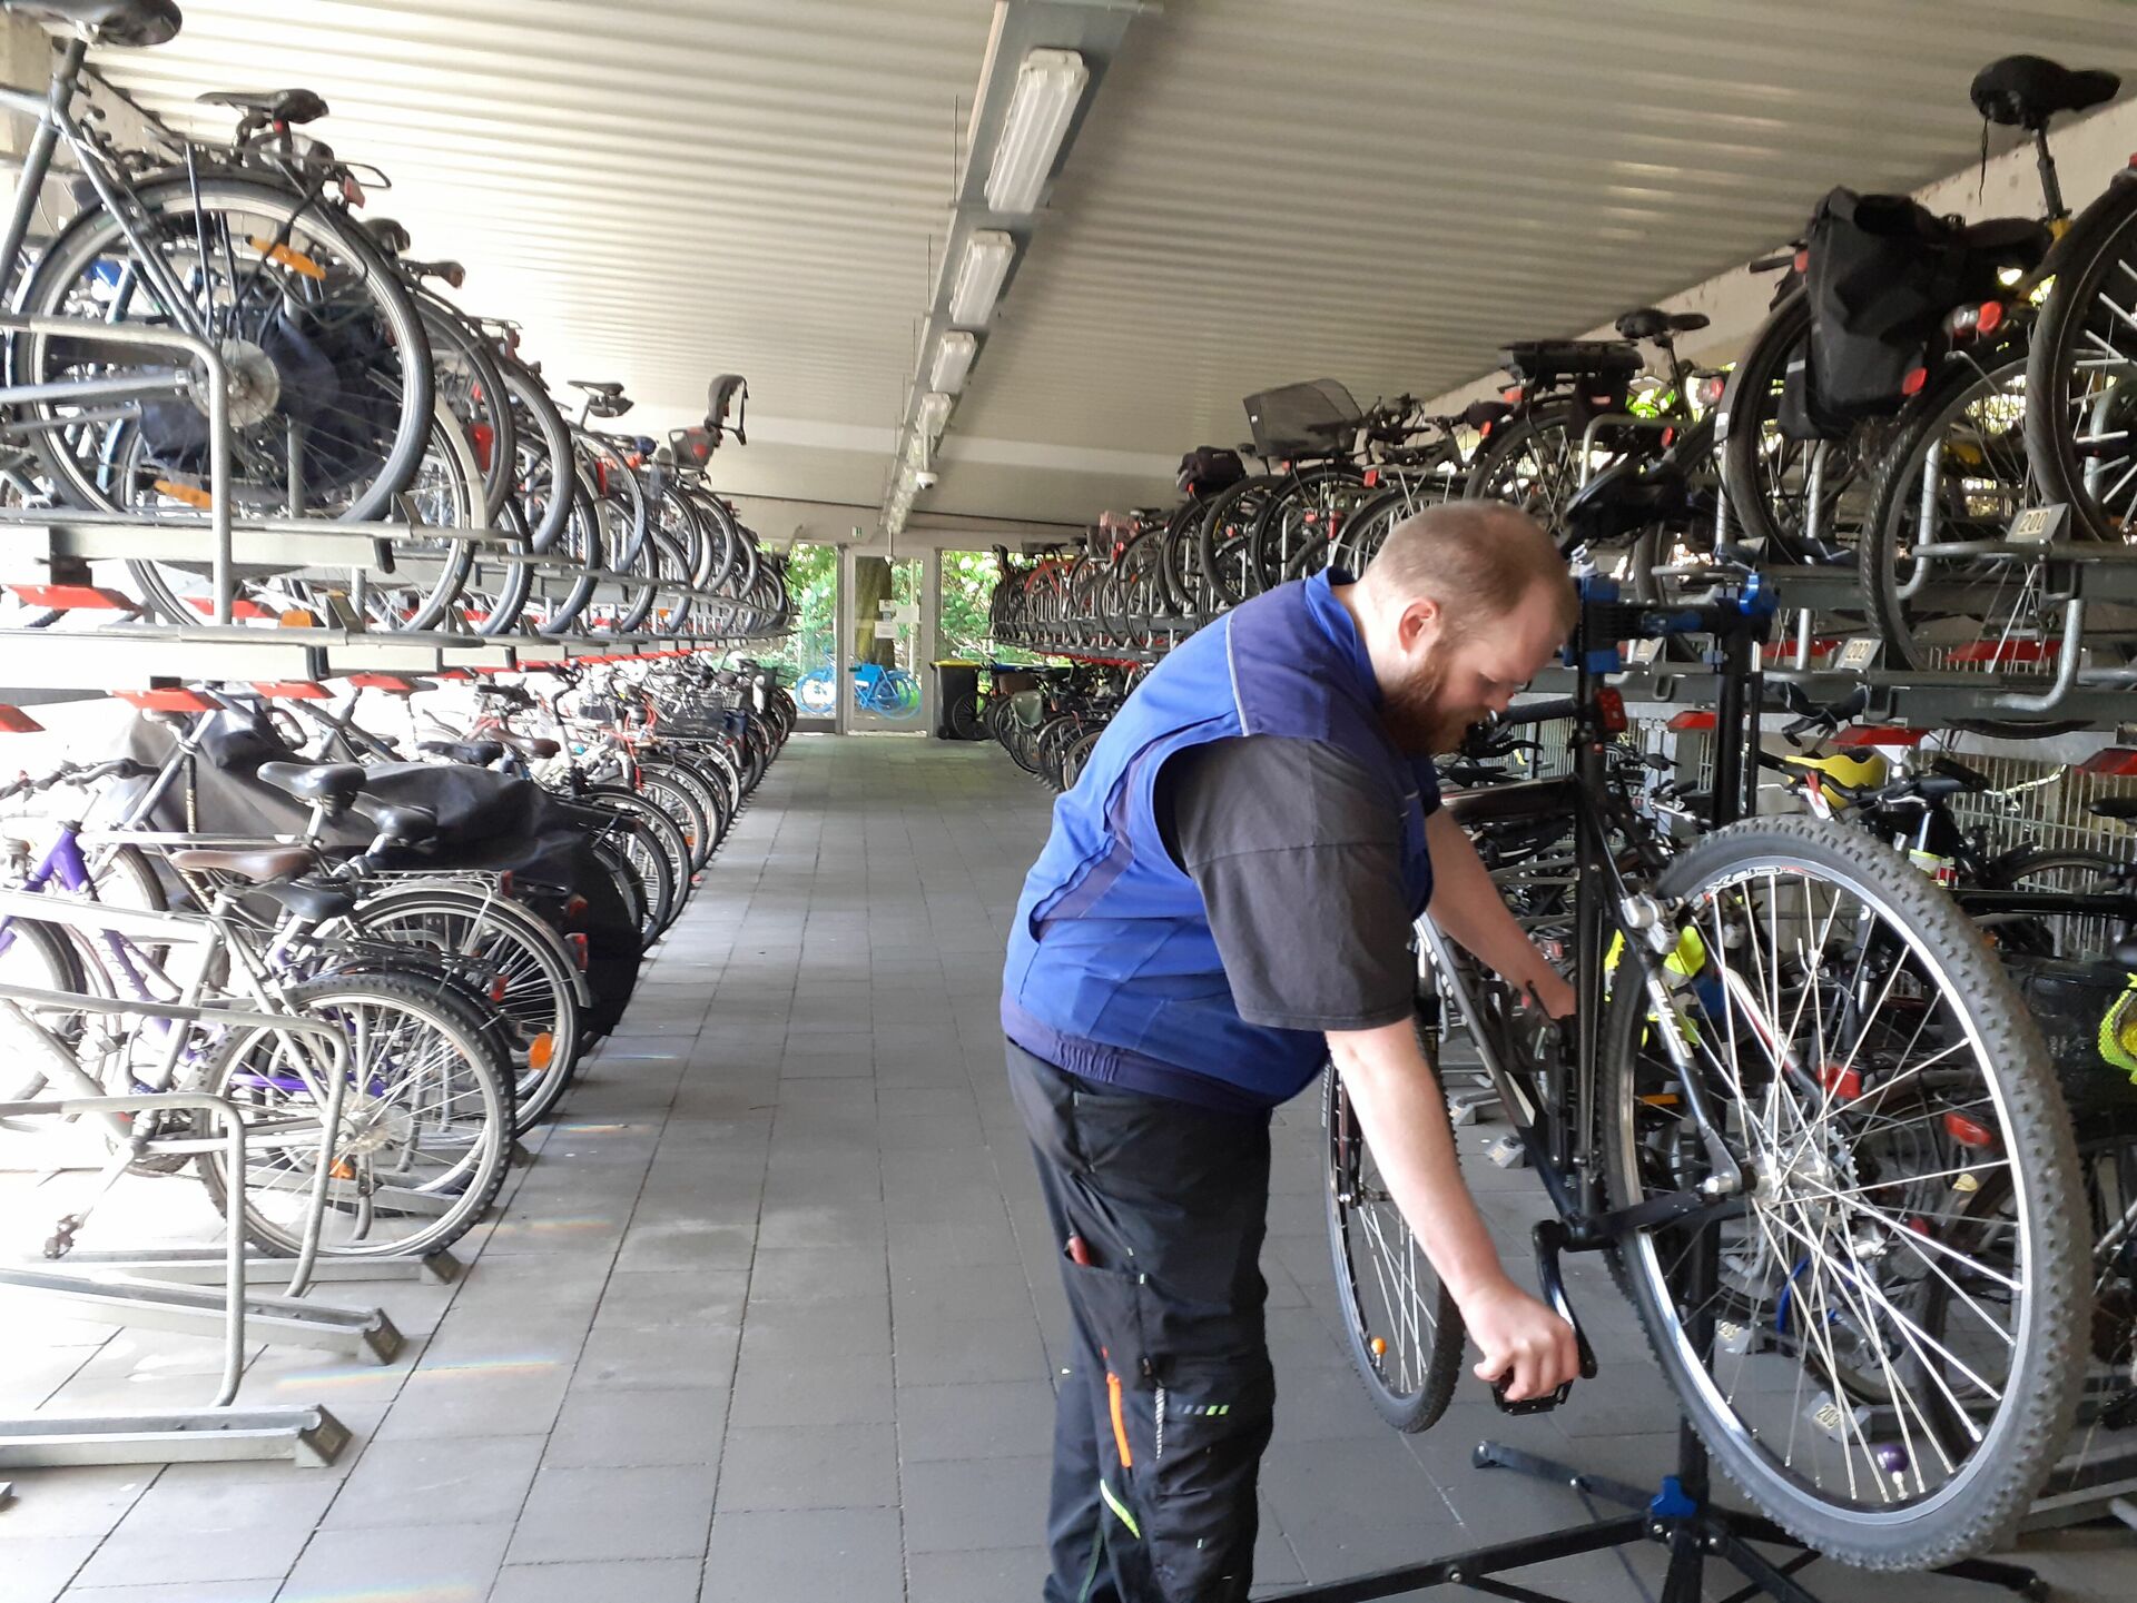
[[[1075,1326],[1045,1601],[1237,1603],[1276,1404],[1259,1264],[1269,1116],[1118,1091],[1017,1046],[1009,1084]]]

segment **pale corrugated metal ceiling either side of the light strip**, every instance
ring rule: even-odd
[[[105,70],[199,128],[303,83],[378,205],[556,376],[645,427],[746,371],[767,493],[883,489],[987,0],[186,0]],[[1430,395],[1784,239],[1838,181],[1979,141],[2030,49],[2137,77],[2113,0],[1171,0],[1141,17],[957,408],[925,508],[1090,517],[1329,374]],[[1133,455],[1128,455],[1133,453]],[[1017,472],[1013,463],[1043,463]],[[855,519],[865,521],[865,519]]]

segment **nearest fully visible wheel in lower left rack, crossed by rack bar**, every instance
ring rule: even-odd
[[[410,980],[329,975],[288,986],[284,999],[333,1025],[348,1046],[318,1251],[380,1257],[451,1247],[496,1202],[511,1155],[511,1082],[483,1031]],[[235,1193],[246,1238],[295,1255],[327,1142],[325,1059],[301,1035],[239,1029],[201,1065],[201,1084],[246,1116],[241,1176],[220,1146],[201,1155],[209,1197],[229,1215]]]

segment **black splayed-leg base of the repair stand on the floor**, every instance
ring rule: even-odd
[[[1325,1586],[1299,1586],[1289,1592],[1274,1592],[1269,1603],[1368,1603],[1368,1599],[1419,1592],[1430,1586],[1466,1586],[1492,1597],[1515,1599],[1515,1603],[1564,1603],[1551,1592],[1539,1592],[1517,1582],[1504,1580],[1511,1569],[1549,1565],[1556,1558],[1579,1558],[1613,1548],[1631,1548],[1637,1541],[1652,1541],[1669,1548],[1669,1575],[1663,1582],[1660,1603],[1701,1603],[1703,1571],[1707,1558],[1718,1558],[1744,1575],[1746,1586],[1731,1592],[1722,1603],[1750,1603],[1757,1597],[1776,1603],[1819,1603],[1812,1592],[1795,1584],[1795,1575],[1812,1565],[1819,1554],[1804,1548],[1772,1520],[1735,1509],[1718,1509],[1684,1490],[1686,1479],[1705,1477],[1705,1456],[1690,1449],[1686,1469],[1690,1477],[1671,1475],[1660,1492],[1643,1492],[1637,1486],[1613,1481],[1607,1475],[1588,1475],[1517,1447],[1483,1441],[1470,1456],[1477,1469],[1511,1469],[1517,1475],[1532,1475],[1539,1481],[1558,1481],[1588,1496],[1618,1503],[1633,1513],[1620,1513],[1590,1524],[1549,1530],[1541,1537],[1519,1537],[1489,1548],[1472,1548],[1464,1554],[1449,1554],[1423,1565],[1383,1569],[1372,1575],[1355,1575],[1346,1582]],[[1793,1556],[1776,1562],[1757,1552],[1752,1543],[1791,1548]],[[2026,1599],[2047,1597],[2047,1584],[2022,1565],[2002,1565],[1992,1558],[1968,1558],[1936,1571],[1955,1580],[2000,1586]]]

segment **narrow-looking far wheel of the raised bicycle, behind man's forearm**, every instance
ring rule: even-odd
[[[1344,1345],[1366,1396],[1395,1430],[1425,1430],[1462,1379],[1462,1311],[1381,1180],[1331,1063],[1321,1076],[1329,1257]]]

